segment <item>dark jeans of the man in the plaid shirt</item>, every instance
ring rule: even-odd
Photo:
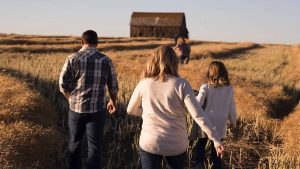
[[[76,113],[69,110],[69,168],[81,168],[81,143],[84,133],[87,136],[88,155],[85,168],[101,168],[103,145],[103,128],[106,120],[106,109],[95,113]]]

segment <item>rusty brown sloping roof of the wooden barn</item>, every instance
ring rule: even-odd
[[[133,12],[131,26],[185,26],[184,13]]]

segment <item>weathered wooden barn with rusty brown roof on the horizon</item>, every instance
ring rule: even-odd
[[[133,12],[130,37],[189,37],[184,13]]]

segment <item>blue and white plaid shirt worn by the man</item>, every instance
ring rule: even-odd
[[[118,82],[112,61],[97,48],[82,48],[66,59],[59,89],[71,94],[71,110],[94,113],[106,108],[106,86],[109,93],[117,94]]]

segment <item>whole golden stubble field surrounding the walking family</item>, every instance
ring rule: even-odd
[[[106,122],[103,167],[140,168],[141,118],[128,116],[126,106],[153,49],[173,46],[173,40],[99,40],[120,88],[117,113]],[[208,64],[221,60],[234,87],[238,125],[225,138],[226,168],[300,168],[300,45],[189,43],[191,61],[179,66],[181,77],[198,89]],[[0,168],[67,167],[68,104],[58,78],[66,57],[78,49],[80,37],[0,34]],[[188,165],[193,146],[191,141]]]

